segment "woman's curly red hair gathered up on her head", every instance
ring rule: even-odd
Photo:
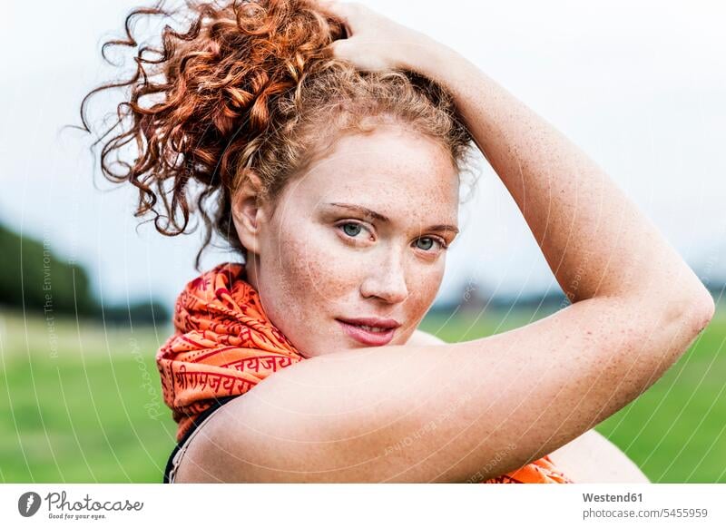
[[[103,142],[104,176],[138,188],[134,215],[151,212],[163,235],[189,232],[191,213],[199,211],[206,231],[197,270],[214,231],[246,256],[231,229],[231,206],[248,170],[263,183],[260,198],[274,200],[325,138],[369,130],[366,118],[404,122],[442,142],[460,172],[468,167],[471,136],[451,96],[416,73],[360,72],[329,57],[325,48],[346,37],[344,25],[313,2],[187,0],[176,10],[162,4],[134,9],[125,38],[103,44],[109,63],[110,46],[137,49],[136,71],[88,93],[81,121],[91,132],[86,113],[93,94],[128,89],[113,126],[92,149]],[[140,45],[132,32],[144,15],[179,17],[184,29],[167,24],[160,47]],[[129,146],[136,149],[132,161]],[[196,200],[194,183],[201,184]]]

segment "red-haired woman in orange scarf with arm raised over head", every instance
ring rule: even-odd
[[[103,151],[167,234],[201,183],[202,220],[245,259],[191,281],[157,355],[180,425],[167,480],[644,482],[592,427],[714,308],[613,181],[474,64],[363,6],[190,8],[189,31],[139,54],[133,127]],[[573,304],[445,344],[416,328],[470,139]],[[113,172],[106,156],[132,140],[140,155]]]

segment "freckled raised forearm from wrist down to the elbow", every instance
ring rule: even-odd
[[[445,46],[429,49],[407,67],[452,93],[571,300],[708,304],[692,270],[594,161],[475,64]]]

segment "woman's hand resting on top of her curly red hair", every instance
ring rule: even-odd
[[[442,44],[402,24],[397,24],[366,5],[317,0],[320,9],[345,24],[348,38],[328,46],[329,54],[354,64],[359,70],[415,70],[417,56],[426,56]]]

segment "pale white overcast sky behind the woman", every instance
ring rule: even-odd
[[[465,54],[593,157],[701,279],[726,279],[721,2],[362,3]],[[137,3],[7,4],[0,22],[0,221],[82,262],[104,301],[152,294],[172,303],[196,275],[199,238],[164,238],[150,224],[137,232],[135,191],[104,181],[83,135],[60,131],[77,122],[83,94],[109,79],[100,46],[121,34]],[[440,299],[475,280],[506,295],[557,288],[488,166],[460,223]],[[210,253],[204,268],[228,257]]]

